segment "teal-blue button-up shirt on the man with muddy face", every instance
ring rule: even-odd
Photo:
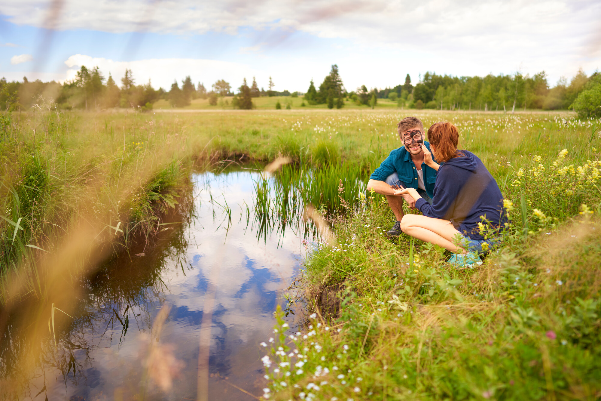
[[[430,151],[430,143],[424,141],[424,145],[426,145],[426,148]],[[432,159],[434,160],[434,155],[432,155]],[[433,198],[434,184],[436,183],[436,170],[427,166],[426,163],[421,164],[421,169],[424,172],[424,187],[426,187],[426,193]],[[391,151],[386,160],[380,164],[380,167],[371,173],[370,179],[386,181],[386,178],[392,173],[397,173],[398,179],[404,182],[405,187],[417,189],[418,179],[415,163],[411,160],[411,154],[404,146]]]

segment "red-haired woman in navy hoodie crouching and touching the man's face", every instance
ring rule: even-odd
[[[423,216],[406,214],[401,229],[453,252],[449,263],[457,267],[479,265],[482,244],[492,244],[492,240],[485,240],[480,234],[481,216],[498,229],[507,222],[501,190],[476,155],[457,150],[456,126],[449,122],[435,123],[428,129],[428,140],[436,160],[442,163],[436,164],[426,146],[421,146],[424,163],[437,170],[433,203],[430,205],[413,188],[395,191],[395,195],[412,196],[415,207],[423,213]]]

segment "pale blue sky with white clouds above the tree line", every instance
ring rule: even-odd
[[[306,92],[337,64],[349,91],[427,71],[545,70],[555,85],[601,68],[600,20],[598,0],[0,0],[0,75],[63,82],[98,66],[155,88],[271,76]]]

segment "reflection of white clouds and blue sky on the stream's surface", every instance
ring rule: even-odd
[[[272,312],[278,302],[282,303],[280,290],[290,285],[299,269],[304,234],[290,226],[282,234],[284,230],[279,226],[268,231],[267,237],[258,237],[259,224],[252,211],[257,178],[258,173],[248,171],[194,175],[195,218],[182,233],[188,242],[184,254],[179,260],[169,255],[162,266],[149,267],[159,273],[153,285],[139,289],[142,299],[127,312],[123,302],[117,305],[111,299],[96,300],[109,303],[104,305],[105,310],[117,309],[115,314],[118,312],[121,320],[91,310],[87,316],[91,323],[74,325],[69,335],[71,343],[93,344],[84,349],[74,347],[76,375],[70,372],[65,379],[58,369],[46,365],[46,381],[38,378],[31,382],[32,396],[45,384],[49,400],[118,400],[141,392],[146,399],[197,399],[199,337],[207,288],[215,296],[209,399],[253,399],[236,387],[261,395],[264,386],[260,358],[265,352],[259,343],[272,336]],[[232,210],[231,223],[219,206],[225,207],[224,199]],[[300,224],[296,231],[305,228]],[[144,258],[151,257],[142,256],[135,262],[143,264]],[[170,309],[156,342],[154,335],[151,338],[149,323],[162,307]],[[120,338],[126,316],[129,329]],[[159,382],[148,378],[144,368],[151,341],[160,345],[155,348],[159,350],[160,368],[164,369],[158,372]],[[160,378],[169,378],[174,371],[179,374],[170,389],[160,390]]]

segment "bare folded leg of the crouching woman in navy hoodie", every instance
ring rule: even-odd
[[[455,235],[460,233],[449,220],[406,214],[401,220],[401,230],[413,238],[442,246],[451,252],[463,251],[461,247],[453,244]]]

